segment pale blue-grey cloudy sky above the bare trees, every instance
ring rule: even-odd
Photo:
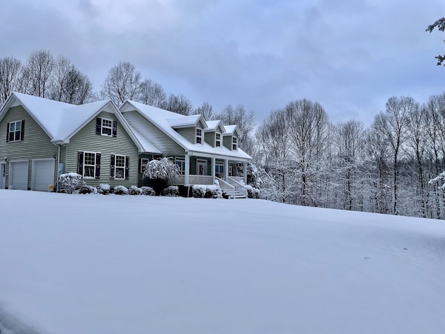
[[[445,92],[443,0],[3,1],[0,57],[67,56],[95,90],[129,61],[166,93],[261,122],[306,98],[334,122],[372,122],[393,95]]]

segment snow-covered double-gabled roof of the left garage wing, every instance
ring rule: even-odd
[[[101,111],[108,111],[115,114],[141,152],[160,153],[145,139],[136,138],[127,121],[124,120],[119,109],[111,100],[76,105],[14,92],[0,110],[0,121],[10,107],[18,105],[23,106],[54,143],[69,143],[70,138]]]

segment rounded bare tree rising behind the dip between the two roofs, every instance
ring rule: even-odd
[[[140,100],[142,88],[140,72],[136,71],[133,64],[120,61],[108,71],[100,95],[121,106],[126,100]]]

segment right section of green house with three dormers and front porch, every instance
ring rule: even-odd
[[[222,188],[245,193],[246,169],[252,158],[238,147],[236,125],[206,121],[201,115],[183,116],[133,101],[124,102],[120,112],[138,136],[179,165],[181,175],[168,180],[169,184],[190,186],[218,180]],[[147,159],[142,158],[140,166],[146,163]],[[243,168],[243,177],[236,176],[238,166]]]

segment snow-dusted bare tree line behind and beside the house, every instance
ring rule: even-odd
[[[390,97],[369,127],[334,124],[318,102],[296,100],[256,127],[242,104],[219,113],[209,102],[194,107],[182,94],[165,93],[129,62],[106,74],[99,91],[71,61],[34,51],[26,62],[0,58],[0,105],[12,91],[71,104],[111,99],[142,102],[182,115],[236,124],[240,147],[253,157],[252,185],[268,200],[317,207],[445,218],[437,177],[445,167],[445,93],[427,102]]]

